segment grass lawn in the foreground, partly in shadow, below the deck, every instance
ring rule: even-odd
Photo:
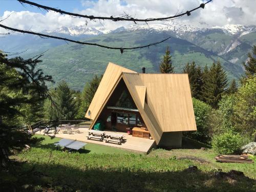
[[[88,144],[84,153],[67,153],[55,150],[57,140],[46,138],[12,156],[17,165],[0,172],[0,190],[15,186],[16,191],[256,191],[255,163],[217,163],[211,151],[158,149],[145,155]],[[188,172],[189,165],[198,170]],[[242,170],[248,177],[217,177],[219,168]]]

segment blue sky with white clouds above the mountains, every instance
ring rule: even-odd
[[[199,6],[201,0],[29,0],[61,10],[94,16],[118,16],[124,12],[134,18],[165,17],[185,12]],[[214,0],[204,9],[196,10],[191,16],[176,19],[181,24],[200,27],[225,26],[228,24],[256,25],[256,0]],[[10,15],[10,16],[9,16]],[[9,17],[8,17],[9,16]],[[91,21],[74,18],[52,11],[21,5],[16,0],[0,0],[0,22],[3,25],[32,31],[55,30],[60,27],[86,26],[100,30],[114,30],[131,22]],[[155,22],[163,23],[163,22]],[[150,23],[151,24],[151,23]],[[0,28],[0,32],[4,32]]]

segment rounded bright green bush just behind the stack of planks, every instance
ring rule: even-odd
[[[212,138],[212,148],[219,154],[234,154],[238,153],[242,146],[242,137],[239,133],[231,131],[215,135]]]

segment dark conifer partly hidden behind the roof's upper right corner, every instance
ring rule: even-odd
[[[203,86],[201,68],[196,67],[195,61],[193,61],[191,63],[186,64],[186,66],[183,68],[183,73],[188,74],[192,97],[200,99],[202,94],[202,86]]]

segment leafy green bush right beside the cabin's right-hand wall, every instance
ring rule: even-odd
[[[185,136],[205,142],[210,139],[207,119],[211,112],[210,105],[193,98],[194,113],[197,123],[196,132],[186,132]]]

